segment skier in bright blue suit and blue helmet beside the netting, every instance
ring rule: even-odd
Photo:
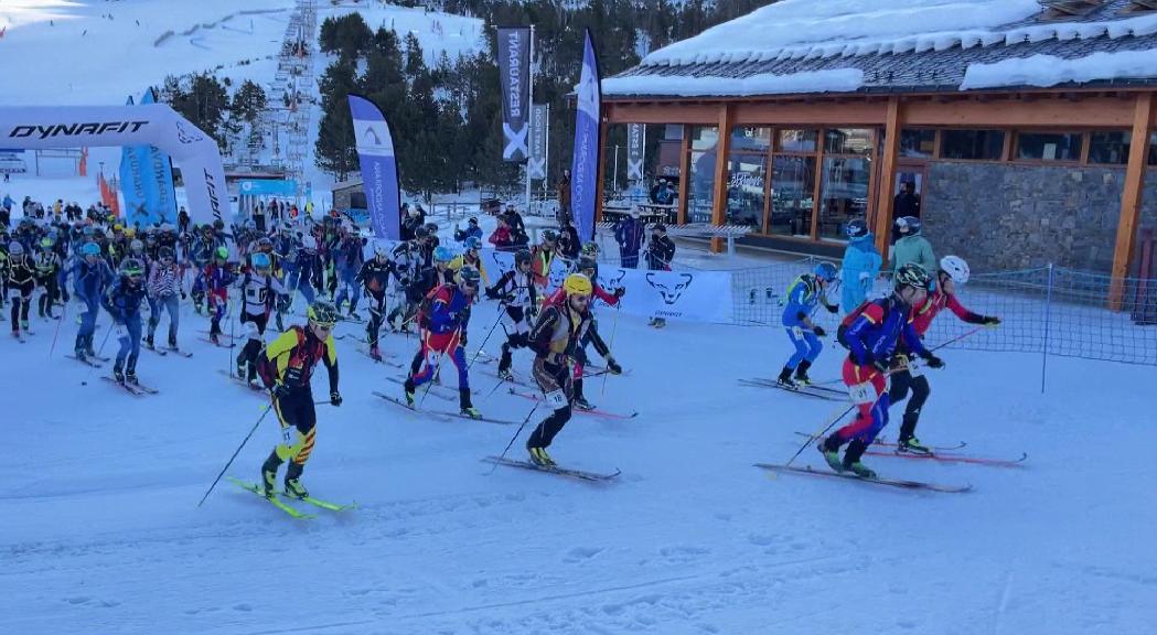
[[[808,369],[824,349],[819,338],[827,334],[823,326],[811,320],[811,316],[820,304],[832,313],[839,311],[839,307],[827,301],[825,293],[833,280],[835,280],[835,265],[819,263],[812,273],[796,278],[788,289],[788,305],[783,309],[783,330],[787,331],[796,352],[780,371],[781,386],[796,389],[799,384],[811,383]],[[795,379],[791,378],[793,372]]]

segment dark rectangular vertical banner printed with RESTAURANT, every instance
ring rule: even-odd
[[[502,84],[502,161],[526,161],[530,118],[530,29],[499,29],[499,82]]]

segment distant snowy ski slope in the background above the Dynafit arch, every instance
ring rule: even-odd
[[[0,1],[0,105],[123,104],[167,75],[213,72],[268,87],[293,0]],[[481,21],[381,2],[318,2],[318,24],[358,10],[371,29],[413,32],[434,64],[481,43]],[[316,45],[316,34],[308,35]],[[309,87],[316,90],[316,87]]]

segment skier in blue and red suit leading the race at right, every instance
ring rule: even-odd
[[[818,445],[833,470],[852,471],[867,479],[876,478],[876,473],[860,458],[887,426],[887,376],[906,366],[906,361],[896,355],[901,338],[905,347],[923,359],[929,368],[944,366],[939,357],[924,348],[912,326],[912,308],[923,304],[930,282],[931,278],[920,265],[904,265],[896,273],[892,295],[865,302],[840,325],[840,342],[852,350],[843,362],[843,383],[858,412],[852,423]],[[841,462],[840,446],[848,442]]]

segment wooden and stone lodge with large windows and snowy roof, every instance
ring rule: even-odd
[[[740,244],[838,256],[867,217],[886,252],[918,215],[973,269],[1123,276],[1157,224],[1155,90],[1157,0],[783,0],[605,79],[603,134],[678,139],[678,221]]]

